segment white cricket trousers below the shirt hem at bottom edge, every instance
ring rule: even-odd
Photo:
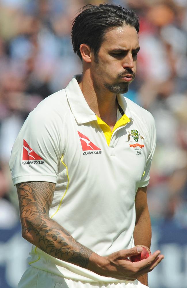
[[[60,277],[56,274],[30,266],[23,274],[18,288],[148,288],[140,283],[121,282],[81,282]]]

